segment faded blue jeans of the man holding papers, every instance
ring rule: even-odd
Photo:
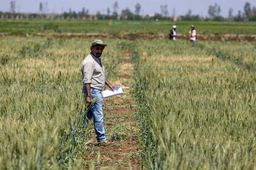
[[[83,92],[85,100],[87,98],[87,93],[85,87],[83,86]],[[91,88],[91,100],[97,98],[96,103],[90,106],[90,109],[87,111],[87,115],[85,116],[84,123],[87,123],[88,120],[93,118],[94,129],[96,133],[96,138],[98,142],[103,142],[106,140],[105,138],[105,130],[103,127],[103,112],[102,112],[102,93],[100,90],[96,88]]]

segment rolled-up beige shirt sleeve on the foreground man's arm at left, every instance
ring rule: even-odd
[[[92,83],[94,64],[91,62],[83,63],[83,85]]]

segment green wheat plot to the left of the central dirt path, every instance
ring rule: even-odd
[[[92,41],[0,38],[0,169],[82,168],[90,127],[80,68]],[[107,78],[120,55],[114,41],[102,59]]]

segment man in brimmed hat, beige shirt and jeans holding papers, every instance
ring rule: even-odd
[[[102,40],[94,40],[91,44],[91,53],[84,59],[81,71],[83,75],[83,93],[86,103],[90,106],[87,111],[85,123],[93,118],[94,129],[99,146],[108,146],[115,142],[107,141],[105,138],[105,130],[103,127],[102,112],[102,93],[105,84],[113,90],[113,85],[105,79],[104,66],[101,63],[100,56],[107,44]],[[114,90],[113,90],[114,91]],[[97,98],[96,103],[92,103],[92,99]]]

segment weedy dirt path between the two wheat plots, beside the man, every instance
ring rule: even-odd
[[[115,79],[109,80],[116,87],[123,89],[123,95],[103,99],[104,128],[107,140],[116,141],[116,144],[104,147],[87,145],[85,169],[88,169],[91,161],[95,167],[108,169],[140,169],[138,159],[138,138],[134,120],[136,103],[131,85],[133,84],[133,66],[131,64],[130,51],[123,51],[118,73]],[[95,135],[94,135],[95,136]],[[96,141],[96,138],[92,138]]]

